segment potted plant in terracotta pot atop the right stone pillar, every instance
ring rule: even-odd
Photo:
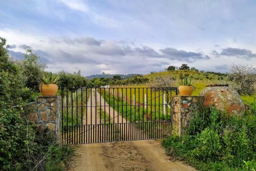
[[[196,87],[193,84],[191,84],[191,80],[187,76],[180,80],[180,95],[191,95],[193,90],[195,89]]]

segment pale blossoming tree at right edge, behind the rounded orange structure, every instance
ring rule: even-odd
[[[256,67],[249,65],[232,65],[229,80],[231,87],[239,94],[252,95],[255,92]]]

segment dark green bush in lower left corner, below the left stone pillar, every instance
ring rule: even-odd
[[[0,170],[63,170],[74,150],[47,137],[14,109],[0,111]]]

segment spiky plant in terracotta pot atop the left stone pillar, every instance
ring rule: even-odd
[[[53,78],[52,72],[50,72],[47,76],[43,76],[40,78],[42,83],[40,84],[39,90],[42,95],[46,96],[54,96],[58,91],[57,82],[59,81],[59,76]]]

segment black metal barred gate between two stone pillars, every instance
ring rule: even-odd
[[[166,138],[171,133],[168,88],[61,88],[62,141],[69,144]]]

